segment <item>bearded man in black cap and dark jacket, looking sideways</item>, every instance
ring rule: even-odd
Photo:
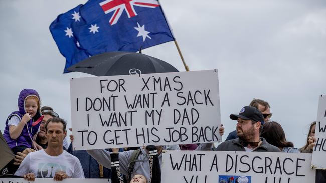
[[[264,117],[257,108],[245,106],[240,110],[239,115],[231,114],[230,119],[238,121],[236,128],[238,138],[221,143],[216,150],[281,152],[260,137]]]

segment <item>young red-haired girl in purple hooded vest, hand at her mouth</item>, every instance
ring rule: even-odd
[[[4,131],[6,142],[15,154],[34,147],[33,137],[41,124],[38,122],[41,117],[39,94],[33,89],[22,90],[18,97],[18,108],[19,111],[7,118]]]

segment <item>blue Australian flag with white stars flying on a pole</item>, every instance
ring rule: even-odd
[[[89,0],[60,14],[51,34],[67,68],[110,51],[139,51],[173,41],[158,0]]]

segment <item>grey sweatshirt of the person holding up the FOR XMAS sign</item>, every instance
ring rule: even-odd
[[[212,143],[202,143],[198,146],[196,150],[211,150]],[[164,150],[167,149],[166,146],[163,146]],[[128,164],[131,159],[133,150],[119,152],[119,161],[120,161],[120,168],[121,173],[124,175],[128,174]],[[106,151],[104,149],[96,149],[96,150],[87,150],[87,153],[91,155],[99,164],[102,164],[104,167],[111,169],[111,157],[110,154],[112,152]],[[150,172],[149,172],[149,162],[148,162],[149,155],[146,152],[146,149],[142,148],[141,152],[139,153],[134,164],[134,170],[131,172],[131,177],[136,174],[145,175],[146,178],[150,179]],[[162,165],[162,153],[158,156],[159,164]]]

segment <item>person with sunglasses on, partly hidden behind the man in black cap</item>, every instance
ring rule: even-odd
[[[254,98],[250,102],[249,106],[257,108],[263,114],[264,122],[269,122],[270,121],[270,118],[272,117],[273,114],[270,113],[270,105],[269,105],[269,103],[267,101]],[[229,135],[228,135],[228,137],[226,138],[225,141],[233,140],[233,139],[236,139],[236,138],[238,138],[238,136],[237,136],[236,130],[234,130],[234,131],[229,133]]]

